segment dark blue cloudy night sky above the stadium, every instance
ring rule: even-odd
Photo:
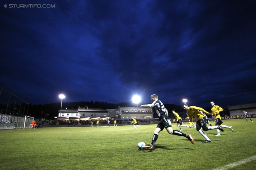
[[[0,85],[27,103],[256,102],[255,0],[18,3],[0,2]]]

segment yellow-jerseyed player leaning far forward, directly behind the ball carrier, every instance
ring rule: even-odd
[[[208,111],[205,111],[201,107],[196,106],[188,106],[188,104],[183,104],[182,107],[187,111],[188,117],[190,119],[190,128],[192,127],[193,117],[196,118],[196,130],[206,139],[204,143],[211,142],[211,140],[207,137],[207,135],[204,133],[204,131],[212,130],[212,129],[220,129],[222,132],[224,131],[220,126],[206,126],[206,119],[204,115],[200,112],[204,112],[208,115],[212,115],[212,113],[209,113]],[[204,131],[202,131],[202,129]]]

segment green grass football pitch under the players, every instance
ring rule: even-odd
[[[149,145],[156,125],[1,130],[0,169],[211,170],[256,155],[256,121],[223,120],[223,124],[232,126],[234,132],[224,128],[215,137],[216,129],[206,131],[211,143],[202,143],[205,139],[196,128],[183,127],[194,144],[164,129],[153,151],[139,150],[137,144]],[[172,127],[179,130],[176,123]],[[235,169],[245,167],[256,169],[256,160]]]

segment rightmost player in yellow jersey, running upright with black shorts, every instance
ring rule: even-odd
[[[223,109],[220,106],[216,106],[214,104],[214,101],[210,102],[210,104],[212,106],[211,110],[212,110],[212,115],[214,116],[214,119],[215,119],[215,125],[216,126],[219,125],[220,127],[231,129],[232,132],[233,132],[234,130],[233,130],[232,126],[222,125],[223,122],[222,122],[221,117],[220,117],[220,112],[223,111]],[[220,136],[220,130],[219,129],[217,129],[217,133],[218,134],[215,135],[215,136]]]

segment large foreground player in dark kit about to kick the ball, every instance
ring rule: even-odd
[[[152,138],[152,143],[150,144],[150,146],[146,146],[144,147],[145,150],[152,150],[154,147],[154,144],[156,143],[156,140],[158,139],[158,134],[164,130],[164,128],[166,129],[166,131],[171,134],[171,135],[178,135],[178,136],[183,136],[186,137],[188,140],[190,140],[190,142],[192,144],[194,144],[194,139],[192,138],[192,136],[190,134],[185,134],[176,130],[172,129],[172,123],[170,118],[168,117],[168,111],[166,108],[164,108],[164,104],[158,100],[158,96],[156,94],[152,94],[150,96],[151,100],[152,100],[152,104],[143,104],[140,107],[147,107],[147,108],[152,108],[155,107],[156,108],[156,113],[158,114],[159,117],[159,123],[154,131],[154,135]]]

